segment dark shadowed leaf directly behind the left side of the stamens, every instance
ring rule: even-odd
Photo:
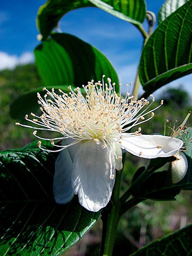
[[[47,90],[52,90],[52,87],[53,86],[46,86]],[[75,88],[73,86],[71,87],[72,89]],[[17,119],[18,121],[23,121],[26,114],[30,114],[31,112],[37,114],[39,110],[39,104],[37,103],[37,92],[43,97],[45,95],[45,91],[43,91],[42,89],[43,87],[33,89],[14,100],[14,102],[10,105],[9,114],[11,115],[11,117]],[[56,93],[58,93],[58,89],[61,89],[65,93],[70,92],[70,89],[68,89],[68,85],[55,85],[54,89]],[[39,113],[42,114],[40,110]]]

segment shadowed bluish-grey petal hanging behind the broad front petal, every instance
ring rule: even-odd
[[[71,186],[72,169],[73,162],[66,148],[59,153],[55,163],[53,194],[57,204],[69,203],[74,196]]]

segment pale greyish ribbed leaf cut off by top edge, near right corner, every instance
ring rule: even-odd
[[[172,14],[176,9],[184,5],[188,0],[166,0],[158,14],[158,24]]]

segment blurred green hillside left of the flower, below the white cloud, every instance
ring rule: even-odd
[[[0,71],[0,150],[23,147],[33,140],[31,130],[16,127],[16,120],[10,117],[9,108],[19,95],[39,86],[42,86],[42,83],[34,64],[18,66],[13,71]],[[23,102],[23,108],[27,106],[28,100]],[[28,112],[23,114],[23,118],[25,114]]]

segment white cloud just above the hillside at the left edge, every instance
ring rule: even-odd
[[[9,55],[6,52],[0,52],[0,70],[14,69],[18,65],[24,65],[34,62],[34,55],[31,52],[24,52],[21,56]]]

